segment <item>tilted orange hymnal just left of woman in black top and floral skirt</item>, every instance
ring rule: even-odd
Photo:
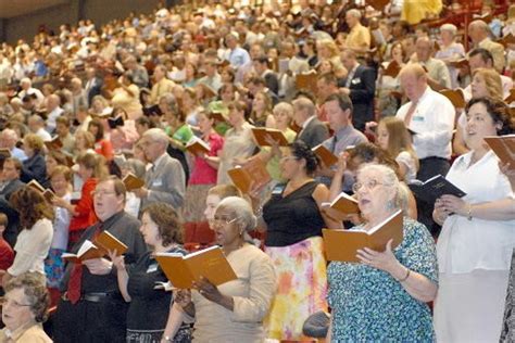
[[[266,165],[260,157],[251,158],[243,166],[236,166],[227,170],[233,183],[243,193],[249,193],[251,187],[268,183],[272,178],[266,170]]]

